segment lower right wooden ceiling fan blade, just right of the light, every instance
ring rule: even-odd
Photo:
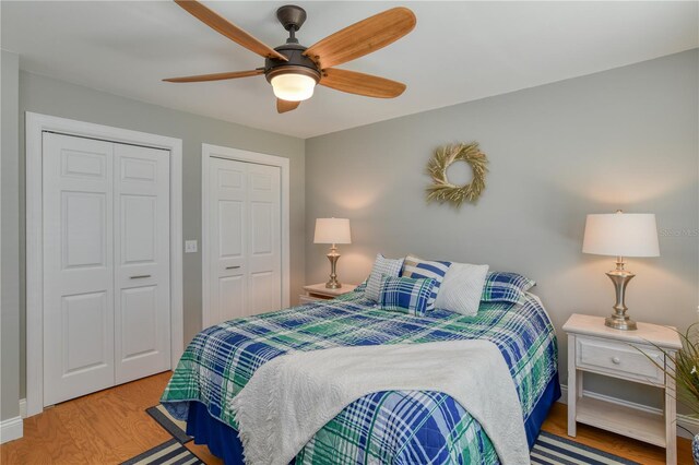
[[[405,84],[401,82],[335,68],[323,70],[320,85],[376,98],[395,98],[405,91]]]

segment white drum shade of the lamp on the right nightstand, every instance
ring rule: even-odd
[[[588,215],[583,253],[659,257],[657,226],[651,213]]]

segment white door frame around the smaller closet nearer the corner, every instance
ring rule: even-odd
[[[202,327],[211,325],[211,302],[209,285],[211,281],[209,267],[211,265],[210,260],[210,247],[209,247],[209,169],[211,157],[225,158],[234,162],[247,162],[254,163],[257,165],[269,165],[281,168],[282,186],[280,189],[282,199],[280,205],[282,206],[282,308],[289,306],[289,291],[291,291],[291,264],[289,264],[289,159],[275,155],[261,154],[257,152],[244,151],[240,148],[224,147],[221,145],[201,144],[201,254],[202,254],[202,311],[201,322]]]

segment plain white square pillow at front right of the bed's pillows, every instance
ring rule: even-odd
[[[472,317],[478,312],[488,265],[452,263],[441,283],[435,307]]]

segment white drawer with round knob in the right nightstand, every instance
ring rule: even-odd
[[[647,354],[661,367],[663,353],[652,346],[636,345],[594,337],[577,337],[577,365],[617,378],[633,379],[644,383],[665,384],[663,370],[645,357]],[[643,353],[640,353],[639,347]]]

